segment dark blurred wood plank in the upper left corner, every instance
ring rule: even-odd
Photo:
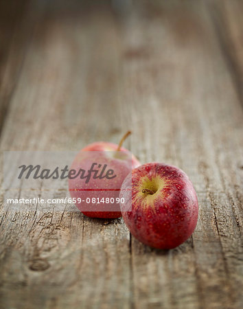
[[[0,3],[0,132],[40,12],[27,0]]]

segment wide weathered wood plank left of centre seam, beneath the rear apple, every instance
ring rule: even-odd
[[[100,12],[85,14],[71,27],[68,18],[59,24],[55,14],[43,17],[46,27],[38,25],[1,150],[78,150],[97,139],[117,141],[122,134],[119,109],[110,113],[117,95],[117,27],[108,10],[102,19]],[[67,189],[61,193],[66,196]],[[49,192],[30,196],[36,194],[47,197]],[[129,233],[121,220],[43,214],[41,209],[10,211],[2,218],[4,308],[16,306],[16,299],[19,308],[95,308],[121,300],[120,306],[130,306]]]

